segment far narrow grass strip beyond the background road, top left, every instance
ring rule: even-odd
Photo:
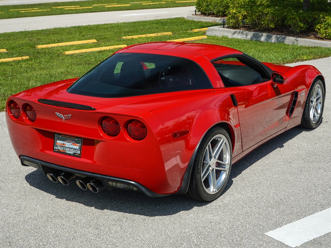
[[[76,1],[76,2],[56,2],[56,3],[39,3],[39,4],[24,4],[24,5],[4,5],[0,6],[0,19],[7,18],[19,18],[19,17],[32,17],[32,16],[50,16],[50,15],[64,15],[64,14],[77,14],[77,13],[89,13],[89,12],[104,12],[104,11],[118,11],[118,10],[141,10],[141,9],[158,9],[158,8],[170,8],[170,7],[185,7],[195,6],[195,2],[176,3],[174,1],[164,1],[164,4],[148,4],[142,5],[145,2],[159,3],[163,0],[91,0],[91,1]],[[183,0],[177,0],[183,1]],[[92,6],[93,4],[109,4],[117,3],[117,5],[130,4],[130,6],[119,6],[119,7],[105,7],[104,5]],[[78,6],[79,7],[92,7],[90,9],[76,9],[76,10],[65,10],[63,8],[53,8],[60,6]],[[20,11],[9,11],[16,9],[32,9],[38,8],[39,10],[50,10],[40,12],[20,12]]]

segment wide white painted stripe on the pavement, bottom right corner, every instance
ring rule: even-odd
[[[288,246],[296,247],[328,232],[331,232],[331,208],[265,234]]]

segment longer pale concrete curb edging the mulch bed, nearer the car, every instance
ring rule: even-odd
[[[304,38],[296,38],[283,35],[274,35],[266,33],[258,33],[251,31],[242,31],[222,26],[213,26],[207,29],[206,35],[226,36],[229,38],[238,38],[244,40],[267,41],[273,43],[285,43],[290,45],[308,46],[308,47],[331,47],[331,41],[311,40]]]

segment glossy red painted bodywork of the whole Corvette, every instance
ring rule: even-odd
[[[206,72],[213,89],[109,99],[68,93],[68,87],[77,79],[74,78],[26,90],[9,97],[6,108],[9,134],[18,156],[131,180],[159,194],[176,193],[194,151],[210,128],[219,125],[228,130],[235,163],[272,137],[300,124],[309,87],[321,75],[313,66],[264,63],[283,73],[287,82],[276,87],[269,80],[225,88],[211,61],[242,54],[235,49],[154,42],[132,45],[116,53],[150,53],[192,60]],[[299,94],[289,118],[287,111],[294,91],[306,94]],[[231,94],[238,106],[234,106]],[[38,102],[41,98],[83,104],[96,110],[47,105]],[[13,101],[17,105],[11,105]],[[35,121],[27,118],[26,106],[35,110]],[[55,112],[71,117],[63,120]],[[81,157],[54,152],[55,134],[82,138]]]

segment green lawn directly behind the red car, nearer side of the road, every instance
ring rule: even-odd
[[[10,95],[38,85],[79,77],[116,50],[72,55],[64,55],[64,51],[201,36],[205,34],[204,31],[192,32],[191,30],[213,25],[217,23],[175,18],[3,33],[0,36],[0,48],[6,48],[8,52],[0,53],[0,59],[21,56],[29,56],[30,59],[0,63],[0,109],[4,109],[6,99]],[[173,35],[138,39],[121,38],[121,36],[157,32],[172,32]],[[36,45],[87,39],[96,39],[98,43],[36,48]],[[278,64],[331,56],[331,48],[303,47],[226,37],[209,36],[207,39],[196,42],[232,47],[260,61]]]

